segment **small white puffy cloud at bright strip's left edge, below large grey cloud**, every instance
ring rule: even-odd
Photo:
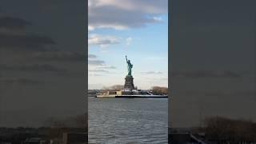
[[[120,38],[114,36],[103,36],[98,34],[90,34],[88,38],[89,45],[97,45],[101,47],[109,46],[110,44],[120,43]]]

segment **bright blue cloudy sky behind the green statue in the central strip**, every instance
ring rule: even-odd
[[[124,85],[126,55],[134,86],[168,86],[168,1],[88,1],[89,89]]]

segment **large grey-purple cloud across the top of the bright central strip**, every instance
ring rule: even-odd
[[[167,14],[167,0],[89,0],[89,30],[110,28],[126,30],[160,22]]]

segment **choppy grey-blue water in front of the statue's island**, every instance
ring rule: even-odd
[[[167,98],[89,98],[89,143],[167,143]]]

